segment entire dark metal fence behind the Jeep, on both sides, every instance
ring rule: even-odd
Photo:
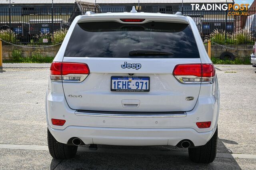
[[[74,18],[86,11],[96,12],[130,12],[126,8],[21,8],[0,9],[0,37],[10,36],[16,44],[42,44],[42,39],[51,38],[56,31],[68,29]],[[139,12],[161,12],[175,14],[178,9],[146,8],[141,6]],[[9,12],[10,11],[10,12]],[[254,44],[256,40],[255,9],[250,9],[241,16],[238,11],[191,11],[184,8],[182,14],[195,21],[203,40],[211,39],[218,44]],[[232,13],[233,12],[233,13]],[[238,12],[238,13],[236,13]],[[229,15],[229,14],[237,15]],[[238,15],[239,14],[239,15]],[[10,31],[11,30],[11,31]],[[7,32],[12,32],[12,35]],[[15,37],[14,37],[15,34]]]

